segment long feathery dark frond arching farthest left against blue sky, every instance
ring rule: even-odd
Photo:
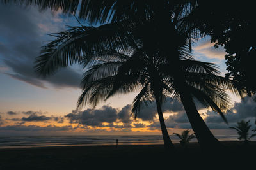
[[[96,54],[99,57],[99,53],[107,49],[124,51],[126,38],[130,36],[122,28],[122,24],[69,27],[67,31],[52,34],[56,39],[43,46],[42,54],[35,60],[35,71],[46,76],[69,64],[92,60]]]

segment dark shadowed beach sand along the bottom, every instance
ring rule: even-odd
[[[244,147],[239,142],[222,142],[228,152],[202,153],[198,143],[187,150],[175,144],[176,152],[166,152],[163,145],[60,146],[0,150],[0,169],[98,169],[111,167],[237,167],[255,160],[256,142]],[[253,155],[251,155],[253,154]],[[252,160],[251,160],[252,159]],[[224,163],[224,164],[223,164]],[[238,165],[236,165],[238,164]],[[253,164],[253,162],[252,162]],[[244,167],[243,166],[243,167]],[[143,168],[143,169],[144,169]]]

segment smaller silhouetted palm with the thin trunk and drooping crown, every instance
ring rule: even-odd
[[[125,55],[125,53],[127,53]],[[157,113],[163,134],[164,146],[173,148],[173,143],[164,123],[161,104],[169,87],[166,85],[166,74],[161,74],[163,59],[157,52],[147,52],[143,48],[130,49],[124,53],[114,50],[102,52],[93,56],[93,63],[84,62],[88,71],[81,81],[83,93],[79,97],[78,106],[92,104],[96,106],[102,100],[117,93],[128,93],[134,90],[140,92],[135,97],[132,113],[136,118],[143,104],[156,101]]]

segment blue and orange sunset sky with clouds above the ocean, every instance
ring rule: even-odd
[[[86,25],[86,22],[81,21]],[[77,110],[81,94],[79,82],[83,70],[79,65],[62,69],[47,78],[34,70],[40,47],[51,40],[49,34],[79,25],[72,16],[61,11],[38,11],[0,4],[0,135],[108,135],[161,134],[155,103],[143,108],[138,118],[131,115],[131,103],[136,93],[118,95],[96,108]],[[225,71],[225,50],[215,49],[209,37],[193,45],[196,60],[213,62]],[[256,104],[250,97],[230,94],[232,106],[226,112],[229,124],[220,115],[198,105],[198,110],[213,134],[232,135],[229,129],[241,119],[255,122]],[[186,112],[179,101],[169,97],[163,104],[169,134],[191,129]]]

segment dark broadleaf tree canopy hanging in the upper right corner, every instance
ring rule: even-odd
[[[223,46],[228,78],[251,96],[256,92],[253,80],[256,54],[256,22],[250,1],[198,1],[195,11],[200,31],[211,36],[215,47]]]

